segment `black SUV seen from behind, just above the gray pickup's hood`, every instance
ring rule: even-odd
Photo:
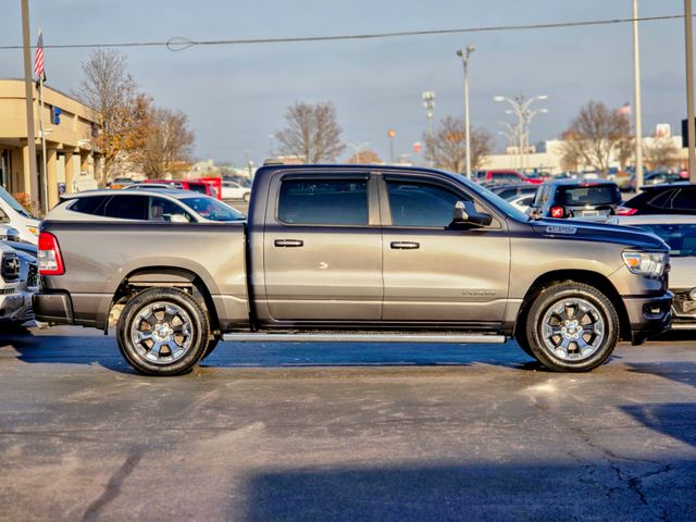
[[[613,182],[554,179],[539,185],[529,214],[534,219],[604,221],[614,214],[621,192]]]

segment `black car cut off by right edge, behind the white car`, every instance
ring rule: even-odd
[[[643,187],[643,192],[619,207],[617,214],[696,214],[696,185],[673,183]]]

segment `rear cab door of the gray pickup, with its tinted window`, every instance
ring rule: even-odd
[[[263,233],[271,320],[381,319],[382,234],[373,184],[368,173],[297,171],[271,184]]]

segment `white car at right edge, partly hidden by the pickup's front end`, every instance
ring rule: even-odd
[[[696,215],[620,215],[610,223],[638,226],[670,246],[672,330],[696,330]]]

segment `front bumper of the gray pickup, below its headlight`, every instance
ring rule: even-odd
[[[648,337],[654,337],[669,330],[672,321],[673,298],[671,291],[656,297],[624,298],[633,345],[639,345]]]

